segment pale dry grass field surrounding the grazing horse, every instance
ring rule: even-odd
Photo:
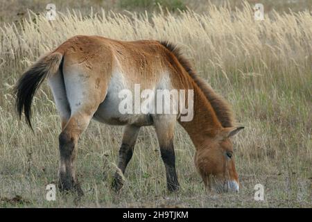
[[[312,207],[312,8],[272,10],[254,21],[253,4],[240,8],[107,12],[83,16],[64,10],[48,22],[29,12],[0,26],[0,207]],[[97,13],[96,13],[97,12]],[[169,40],[178,44],[198,75],[232,105],[239,193],[206,192],[193,164],[194,146],[175,130],[181,189],[166,191],[164,164],[153,128],[143,128],[125,172],[121,193],[110,189],[122,127],[92,121],[78,145],[78,180],[85,196],[57,192],[60,121],[46,82],[33,101],[32,133],[15,114],[17,79],[37,58],[73,35],[118,40]],[[254,185],[264,200],[254,200]]]

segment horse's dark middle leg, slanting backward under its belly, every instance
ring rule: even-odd
[[[115,191],[119,191],[123,186],[123,180],[121,178],[121,173],[125,173],[125,168],[128,162],[131,160],[133,150],[135,149],[135,142],[137,140],[137,135],[139,134],[139,126],[128,125],[125,126],[123,131],[123,140],[121,147],[119,148],[119,158],[118,158],[118,168],[120,171],[116,171],[114,175],[114,180],[112,182],[112,188]]]

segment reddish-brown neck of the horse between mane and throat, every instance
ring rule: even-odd
[[[194,94],[193,120],[181,121],[180,119],[179,123],[187,131],[197,149],[202,146],[208,137],[216,137],[222,126],[201,89],[196,83],[192,85]]]

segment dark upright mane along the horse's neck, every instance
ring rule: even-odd
[[[225,101],[222,96],[216,94],[214,89],[212,89],[210,85],[208,85],[204,80],[202,80],[202,78],[200,78],[200,76],[195,73],[195,71],[193,71],[189,60],[182,56],[180,49],[175,44],[172,44],[171,42],[160,42],[160,44],[165,46],[166,49],[173,53],[182,67],[184,67],[184,69],[187,71],[189,76],[191,76],[198,87],[200,87],[212,108],[214,108],[214,112],[216,112],[216,116],[218,117],[221,125],[223,127],[234,126],[233,113],[227,101]]]

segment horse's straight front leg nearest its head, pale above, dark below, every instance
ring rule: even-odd
[[[167,188],[177,191],[180,188],[175,170],[175,150],[173,134],[175,130],[175,115],[161,114],[153,117],[162,160],[166,168]]]

